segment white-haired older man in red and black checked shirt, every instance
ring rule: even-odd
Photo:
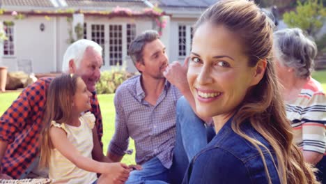
[[[78,40],[63,56],[62,71],[75,73],[93,93],[91,112],[95,115],[98,139],[102,146],[102,116],[95,84],[100,79],[102,47],[91,40]],[[0,178],[34,178],[47,176],[38,171],[38,148],[46,96],[52,77],[38,79],[26,87],[0,118]],[[58,168],[60,169],[60,168]]]

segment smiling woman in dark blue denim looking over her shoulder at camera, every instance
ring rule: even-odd
[[[218,1],[194,26],[187,79],[217,135],[183,183],[317,183],[293,143],[271,62],[272,22],[253,1]]]

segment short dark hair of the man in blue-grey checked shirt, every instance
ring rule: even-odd
[[[151,43],[157,39],[160,39],[157,31],[147,30],[132,40],[128,52],[135,66],[137,62],[143,63],[143,47],[146,43]]]

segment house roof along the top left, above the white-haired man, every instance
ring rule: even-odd
[[[68,16],[72,13],[105,17],[164,15],[149,8],[143,0],[0,0],[5,15],[12,12],[24,15]]]

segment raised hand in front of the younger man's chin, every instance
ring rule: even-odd
[[[176,86],[181,93],[189,90],[187,81],[187,70],[188,70],[189,57],[187,57],[181,65],[178,61],[173,61],[169,66],[165,68],[163,72],[164,77],[174,86]]]

